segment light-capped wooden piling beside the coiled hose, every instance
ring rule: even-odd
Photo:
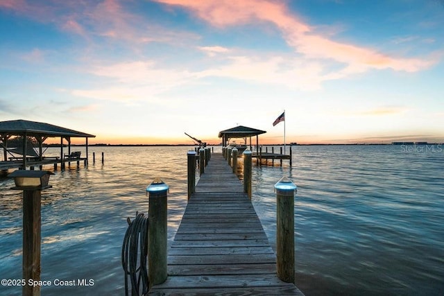
[[[167,195],[169,186],[156,178],[148,187],[149,288],[167,280]]]

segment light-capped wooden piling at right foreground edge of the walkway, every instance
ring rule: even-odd
[[[276,270],[287,283],[295,282],[294,194],[298,187],[287,177],[275,184],[276,191]]]

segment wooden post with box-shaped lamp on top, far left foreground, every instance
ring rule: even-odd
[[[41,193],[51,188],[48,184],[49,171],[18,170],[10,173],[15,187],[13,190],[23,190],[23,295],[40,295],[40,285],[33,284],[40,281],[40,243],[41,243]]]

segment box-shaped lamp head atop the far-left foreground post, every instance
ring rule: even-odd
[[[10,173],[8,177],[14,178],[15,187],[12,187],[14,190],[43,190],[52,187],[48,185],[50,175],[54,175],[54,173],[17,170]]]

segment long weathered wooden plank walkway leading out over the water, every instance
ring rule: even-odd
[[[212,154],[168,250],[168,278],[149,295],[303,295],[276,256],[244,188]]]

